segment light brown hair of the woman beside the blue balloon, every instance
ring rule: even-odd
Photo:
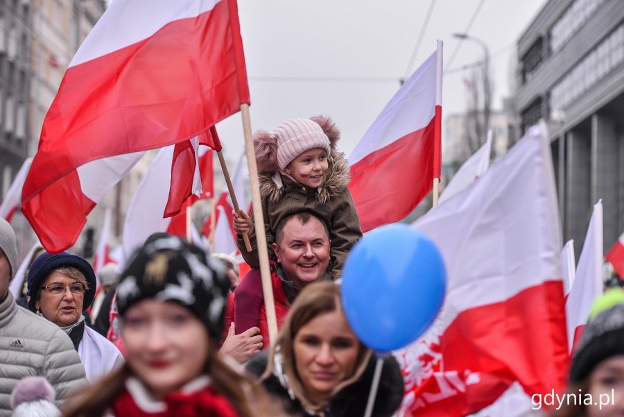
[[[288,316],[286,316],[286,321],[279,331],[275,345],[271,347],[266,371],[261,376],[261,380],[265,380],[273,373],[275,354],[277,352],[281,356],[281,365],[286,377],[288,377],[288,388],[293,391],[306,409],[318,410],[323,405],[315,404],[309,400],[309,395],[306,394],[304,385],[295,367],[293,341],[297,332],[313,318],[331,312],[343,312],[343,307],[340,303],[340,286],[331,281],[314,282],[307,285],[297,296],[291,309],[288,310]],[[366,348],[362,342],[359,343],[360,349],[354,374],[338,384],[333,389],[332,396],[345,388],[345,386],[356,382],[364,372],[372,355],[372,350]]]

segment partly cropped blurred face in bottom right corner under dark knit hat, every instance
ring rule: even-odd
[[[588,405],[588,417],[624,416],[624,355],[600,362],[589,375],[589,393],[594,405]]]

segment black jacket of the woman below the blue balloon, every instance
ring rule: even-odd
[[[250,373],[260,377],[266,370],[268,364],[269,351],[264,351],[252,357],[245,367]],[[275,374],[275,371],[262,384],[266,390],[275,398],[281,400],[286,414],[289,416],[324,416],[324,417],[352,417],[363,416],[366,411],[366,402],[368,393],[372,384],[372,378],[375,368],[374,357],[371,357],[364,373],[359,380],[353,384],[345,386],[340,392],[336,393],[329,404],[322,410],[322,413],[313,414],[306,411],[300,400],[289,392],[288,386],[285,386],[284,375]],[[383,368],[381,368],[381,379],[379,389],[375,397],[375,404],[372,415],[374,417],[390,417],[399,409],[401,400],[403,399],[404,384],[401,368],[397,363],[397,359],[391,355],[385,358]]]

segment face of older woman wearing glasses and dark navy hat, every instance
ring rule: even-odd
[[[42,282],[35,308],[55,325],[66,327],[76,323],[83,314],[84,300],[84,284],[62,272],[53,271]]]

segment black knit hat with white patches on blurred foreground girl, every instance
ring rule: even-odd
[[[197,246],[174,235],[152,235],[121,273],[117,308],[121,316],[141,300],[155,298],[187,307],[211,337],[223,333],[229,278],[223,266]]]

